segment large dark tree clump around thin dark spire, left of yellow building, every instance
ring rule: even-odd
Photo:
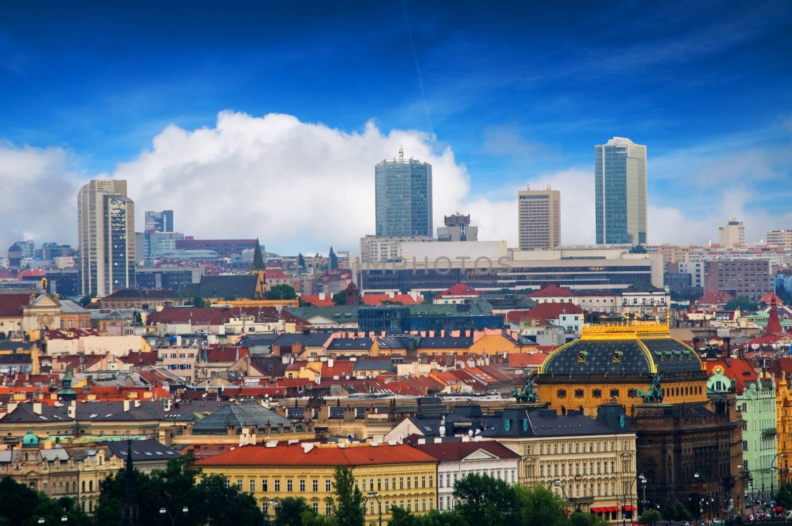
[[[165,470],[150,474],[135,471],[140,524],[169,524],[166,514],[159,513],[162,508],[178,513],[182,524],[261,524],[261,510],[252,495],[242,493],[237,486],[226,487],[223,475],[208,475],[196,483],[201,471],[194,463],[195,457],[188,454],[170,460]],[[123,499],[122,469],[101,484],[95,523],[120,524]],[[187,513],[181,512],[185,506]]]

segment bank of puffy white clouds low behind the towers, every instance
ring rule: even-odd
[[[177,231],[196,238],[259,237],[278,253],[326,253],[331,244],[356,252],[358,238],[374,232],[374,166],[392,158],[399,145],[407,156],[432,163],[435,227],[443,215],[469,213],[479,238],[516,246],[516,192],[524,185],[493,184],[485,194],[472,192],[470,174],[451,147],[440,147],[423,131],[384,132],[373,122],[348,132],[283,114],[220,112],[213,128],[171,125],[111,176],[93,177],[128,180],[138,231],[143,211],[173,209]],[[0,143],[0,184],[6,190],[0,242],[8,246],[35,238],[37,244],[76,244],[76,194],[89,178],[74,167],[77,161],[58,147]],[[671,172],[668,158],[663,163]],[[593,181],[588,167],[538,173],[526,181],[532,188],[549,184],[561,190],[565,244],[594,241]],[[649,242],[707,242],[729,215],[746,221],[752,241],[762,237],[765,225],[792,222],[790,214],[757,210],[760,193],[744,181],[737,188],[740,184],[731,181],[728,192],[679,194],[672,204],[650,190]],[[697,205],[699,194],[706,196],[703,205]]]

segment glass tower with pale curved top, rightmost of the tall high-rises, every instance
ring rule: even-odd
[[[646,147],[614,137],[594,147],[596,242],[646,242]]]

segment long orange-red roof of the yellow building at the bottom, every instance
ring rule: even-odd
[[[407,444],[394,446],[244,446],[196,462],[199,466],[376,466],[380,464],[436,463],[436,459]]]

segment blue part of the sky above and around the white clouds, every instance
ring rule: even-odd
[[[650,242],[706,242],[732,214],[754,240],[792,227],[790,2],[526,3],[17,2],[0,19],[0,141],[63,152],[82,180],[223,110],[372,121],[451,148],[466,199],[498,201],[592,170],[593,145],[621,135],[648,145]],[[706,232],[675,238],[665,215]]]

